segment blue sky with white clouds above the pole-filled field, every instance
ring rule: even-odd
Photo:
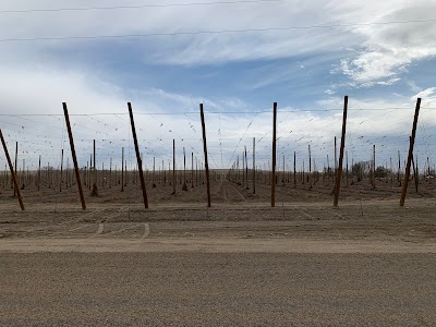
[[[128,101],[144,165],[168,168],[172,140],[209,166],[230,168],[247,148],[271,161],[278,104],[280,167],[334,165],[349,96],[346,150],[376,165],[405,159],[422,98],[415,156],[436,156],[436,2],[402,1],[29,1],[0,4],[0,129],[21,167],[71,162],[62,102],[81,167],[93,140],[97,166],[134,167]],[[329,161],[327,161],[329,156]],[[27,164],[22,164],[25,159]],[[47,164],[46,164],[47,162]],[[164,162],[164,164],[162,164]],[[4,169],[0,153],[0,168]],[[71,164],[69,164],[71,165]],[[396,166],[396,164],[393,164]],[[20,167],[20,166],[19,166]]]

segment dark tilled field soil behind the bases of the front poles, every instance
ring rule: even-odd
[[[71,172],[70,172],[71,174]],[[268,203],[270,201],[270,185],[268,180],[261,178],[261,181],[256,182],[256,194],[253,194],[253,182],[244,182],[242,180],[238,183],[229,182],[225,180],[225,175],[215,178],[211,174],[211,202],[214,204],[234,204],[234,203]],[[219,180],[221,178],[221,180]],[[217,180],[216,180],[217,179]],[[300,180],[296,184],[293,184],[293,180],[290,181],[280,178],[278,175],[278,183],[276,186],[276,202],[277,205],[283,203],[317,203],[317,202],[332,202],[332,179],[323,179],[322,177],[314,184],[305,181],[303,184]],[[135,184],[136,182],[136,184]],[[142,191],[140,182],[131,177],[128,185],[124,187],[124,192],[121,191],[121,185],[106,182],[106,185],[98,183],[99,196],[90,196],[92,187],[84,185],[85,198],[88,204],[136,204],[142,203]],[[10,183],[0,185],[0,205],[16,203],[16,198],[12,198],[13,189]],[[22,184],[22,183],[20,183]],[[194,187],[192,187],[194,184]],[[312,186],[311,186],[312,184]],[[177,193],[172,194],[173,186],[167,181],[167,183],[155,182],[156,187],[152,186],[152,182],[147,182],[146,190],[150,206],[161,204],[196,204],[206,203],[206,185],[203,182],[195,181],[192,183],[186,180],[187,191],[182,191],[182,182],[178,181],[175,184]],[[66,184],[62,184],[62,192],[59,192],[59,183],[51,185],[41,183],[40,190],[34,183],[27,182],[25,189],[22,190],[24,202],[32,205],[35,203],[45,203],[56,207],[59,204],[77,203],[80,204],[80,197],[77,186],[72,184],[66,187]],[[375,181],[375,187],[370,183],[367,179],[356,182],[356,180],[343,179],[341,182],[340,201],[341,202],[360,202],[360,201],[372,201],[372,199],[397,199],[399,202],[401,193],[401,185],[396,179],[385,179]],[[407,198],[436,198],[436,182],[428,183],[423,179],[419,184],[419,193],[415,191],[414,181],[409,182],[408,197]]]

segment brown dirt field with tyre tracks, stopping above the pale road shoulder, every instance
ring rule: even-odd
[[[433,242],[436,219],[433,185],[422,194],[409,187],[404,207],[399,206],[400,187],[378,182],[344,186],[340,205],[331,204],[330,184],[279,184],[276,207],[270,207],[269,185],[256,186],[256,194],[235,183],[211,183],[211,208],[206,186],[201,184],[172,195],[172,185],[149,187],[149,209],[144,209],[141,189],[129,185],[100,187],[82,210],[75,187],[36,187],[23,191],[21,211],[12,190],[0,195],[0,237],[14,238],[272,238],[305,240],[360,240]],[[379,184],[379,185],[378,185]],[[412,184],[412,183],[411,183]],[[425,186],[425,187],[424,187]],[[147,223],[145,231],[144,223]]]

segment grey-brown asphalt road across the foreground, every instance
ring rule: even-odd
[[[1,326],[435,326],[434,254],[1,253]]]

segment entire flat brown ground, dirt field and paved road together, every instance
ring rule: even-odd
[[[179,187],[180,186],[180,187]],[[425,187],[424,187],[425,186]],[[230,182],[0,195],[2,326],[433,326],[436,197]],[[4,314],[5,313],[5,314]]]

